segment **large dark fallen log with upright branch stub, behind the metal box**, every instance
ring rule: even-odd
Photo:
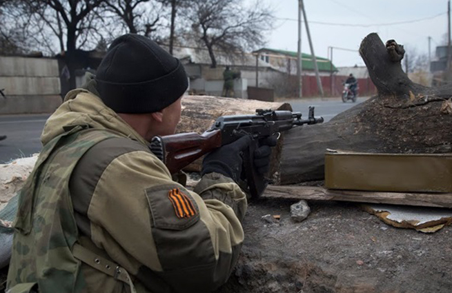
[[[280,185],[324,179],[326,149],[357,152],[432,154],[452,152],[452,85],[427,88],[403,72],[403,47],[384,45],[369,34],[360,55],[377,95],[318,125],[286,132],[275,182]]]

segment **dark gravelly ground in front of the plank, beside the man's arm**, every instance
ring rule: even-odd
[[[354,203],[323,201],[295,223],[296,202],[250,203],[237,270],[218,292],[452,292],[451,227],[394,228]]]

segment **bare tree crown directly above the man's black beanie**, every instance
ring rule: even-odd
[[[157,31],[163,14],[159,1],[151,0],[105,0],[106,9],[119,18],[132,34],[150,34]]]

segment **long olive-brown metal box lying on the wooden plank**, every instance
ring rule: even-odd
[[[325,187],[383,192],[452,192],[452,154],[328,150]]]

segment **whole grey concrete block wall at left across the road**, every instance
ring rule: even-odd
[[[0,57],[0,114],[51,113],[61,105],[55,59]]]

